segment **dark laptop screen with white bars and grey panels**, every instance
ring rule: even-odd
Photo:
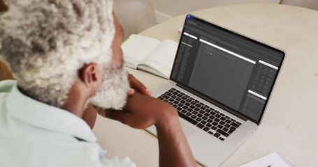
[[[187,15],[171,80],[259,123],[283,59],[283,51]]]

